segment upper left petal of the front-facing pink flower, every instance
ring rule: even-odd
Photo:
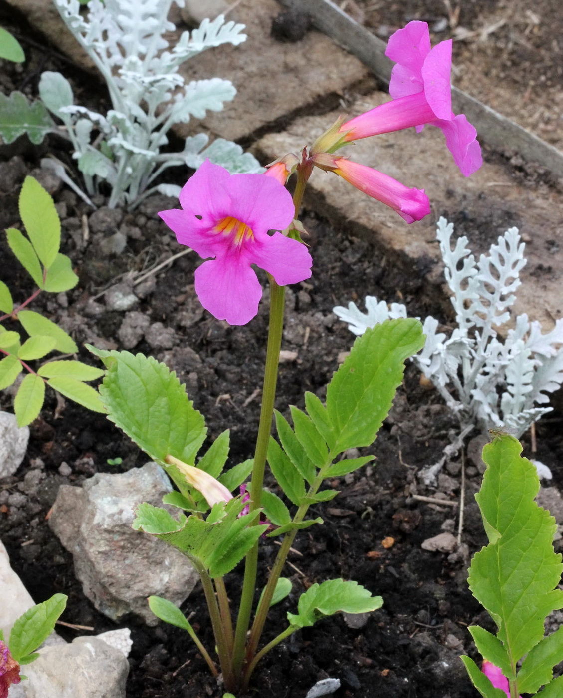
[[[188,179],[180,192],[180,205],[193,216],[202,216],[203,221],[218,221],[228,215],[231,200],[225,184],[231,173],[209,159],[200,165]]]

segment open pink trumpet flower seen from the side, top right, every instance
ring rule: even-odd
[[[451,39],[430,47],[426,22],[409,22],[389,38],[386,56],[396,65],[391,73],[389,92],[393,100],[339,128],[344,142],[379,133],[400,131],[424,124],[441,128],[446,146],[465,177],[483,164],[477,132],[465,114],[451,110]]]

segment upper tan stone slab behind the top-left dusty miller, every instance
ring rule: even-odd
[[[52,0],[8,0],[27,15],[31,24],[61,52],[79,65],[92,68],[80,45],[66,30]],[[282,10],[275,0],[242,0],[228,20],[245,24],[247,40],[240,46],[210,49],[180,66],[185,80],[223,77],[231,80],[238,94],[222,112],[189,124],[177,124],[175,133],[185,137],[200,131],[200,125],[228,140],[241,140],[275,122],[287,123],[292,114],[302,113],[332,96],[337,102],[351,86],[367,80],[368,69],[355,57],[337,47],[330,38],[310,31],[298,43],[282,43],[270,36],[272,20]],[[171,15],[172,17],[172,15]],[[178,20],[177,31],[168,35],[171,45],[187,29]],[[330,107],[327,107],[330,108]]]

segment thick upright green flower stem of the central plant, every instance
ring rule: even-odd
[[[260,507],[262,488],[264,484],[264,470],[270,431],[272,430],[272,415],[274,413],[274,400],[276,394],[277,371],[279,365],[279,349],[282,346],[282,330],[284,328],[285,288],[278,286],[272,279],[270,284],[270,327],[268,330],[268,349],[266,350],[266,366],[264,373],[264,386],[262,393],[262,408],[260,412],[260,425],[258,426],[258,439],[254,452],[254,466],[252,468],[250,511]],[[258,523],[258,519],[256,520]],[[233,670],[235,676],[242,674],[242,661],[244,660],[244,646],[247,641],[247,632],[250,625],[252,604],[256,591],[256,572],[258,570],[258,543],[251,549],[244,565],[244,581],[242,583],[242,595],[240,609],[235,631],[235,644],[233,648]]]

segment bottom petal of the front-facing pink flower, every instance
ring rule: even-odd
[[[228,253],[196,269],[196,293],[218,320],[246,325],[258,313],[262,286],[244,255]]]

